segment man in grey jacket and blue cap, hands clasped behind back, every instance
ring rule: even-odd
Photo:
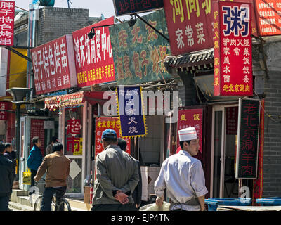
[[[92,211],[135,211],[131,194],[136,188],[138,163],[117,145],[112,129],[103,131],[103,152],[96,157]]]

